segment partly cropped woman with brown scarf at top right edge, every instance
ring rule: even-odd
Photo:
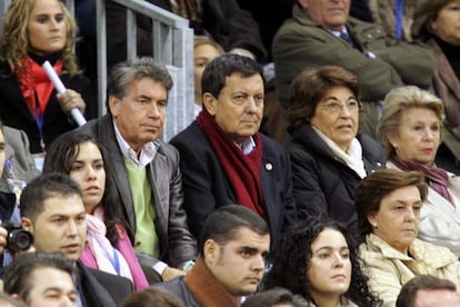
[[[433,51],[433,89],[446,109],[437,162],[460,175],[460,0],[418,0],[412,36]]]

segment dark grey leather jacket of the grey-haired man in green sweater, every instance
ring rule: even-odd
[[[106,115],[90,120],[69,133],[80,132],[94,137],[109,151],[108,164],[112,167],[118,204],[123,207],[124,218],[131,230],[136,231],[136,211],[128,172],[111,116]],[[183,261],[194,259],[197,242],[188,229],[187,215],[182,207],[182,179],[179,170],[179,152],[176,148],[160,141],[154,159],[147,167],[147,174],[153,195],[152,206],[157,214],[152,227],[160,240],[160,259],[177,267]]]

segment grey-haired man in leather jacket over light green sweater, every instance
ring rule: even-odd
[[[159,139],[171,87],[168,71],[151,58],[119,63],[108,80],[108,115],[72,131],[89,133],[108,149],[119,196],[114,205],[124,209],[141,264],[144,255],[154,257],[151,264],[163,280],[182,275],[176,268],[197,255],[182,207],[179,154]]]

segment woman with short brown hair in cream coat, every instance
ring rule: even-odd
[[[371,290],[394,306],[402,286],[419,275],[449,279],[459,289],[460,263],[446,247],[417,239],[428,187],[419,171],[377,170],[354,195],[359,251]]]

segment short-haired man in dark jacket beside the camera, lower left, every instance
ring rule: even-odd
[[[22,227],[34,237],[39,252],[62,252],[77,263],[77,306],[121,306],[133,291],[127,278],[84,268],[78,259],[87,239],[81,190],[70,177],[47,174],[31,180],[20,201]]]

